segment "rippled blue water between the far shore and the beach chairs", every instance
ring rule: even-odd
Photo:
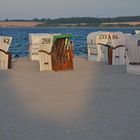
[[[67,33],[72,34],[74,53],[78,56],[87,55],[87,35],[95,31],[121,31],[132,33],[138,28],[0,28],[0,35],[12,36],[10,52],[15,57],[26,57],[29,54],[29,33]]]

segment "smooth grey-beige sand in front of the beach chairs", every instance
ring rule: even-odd
[[[74,58],[40,72],[16,60],[0,71],[0,140],[139,140],[140,77],[126,66]]]

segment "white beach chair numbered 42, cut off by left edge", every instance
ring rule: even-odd
[[[11,54],[8,52],[12,37],[0,36],[0,69],[11,68]]]

